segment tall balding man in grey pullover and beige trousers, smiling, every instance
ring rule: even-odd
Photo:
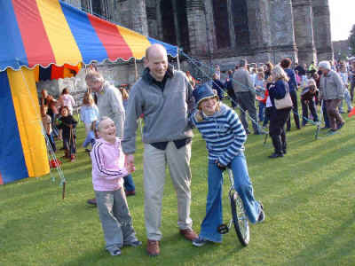
[[[149,255],[158,255],[167,166],[177,192],[180,233],[185,239],[197,239],[190,218],[193,132],[187,123],[188,112],[193,108],[193,88],[183,72],[168,66],[167,51],[162,45],[150,46],[145,60],[146,69],[130,90],[122,148],[127,154],[126,164],[133,164],[137,121],[143,114],[146,251]]]

